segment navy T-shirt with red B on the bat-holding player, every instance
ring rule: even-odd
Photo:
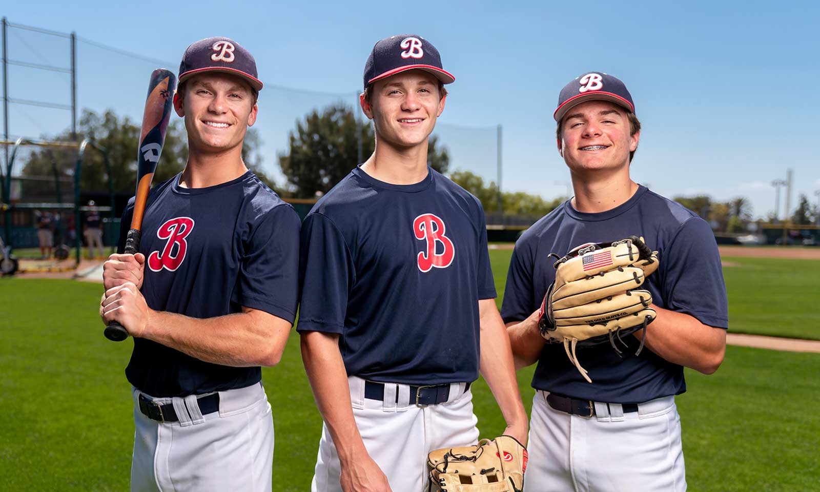
[[[125,209],[125,248],[134,198]],[[188,317],[241,312],[242,306],[293,323],[298,296],[299,217],[253,172],[207,188],[180,187],[180,175],[148,194],[139,253],[148,307]],[[125,376],[156,397],[244,388],[260,367],[203,362],[148,339],[134,339]]]

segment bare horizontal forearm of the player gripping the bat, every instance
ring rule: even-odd
[[[265,312],[193,318],[149,311],[141,338],[223,366],[274,366],[285,349],[290,324]]]

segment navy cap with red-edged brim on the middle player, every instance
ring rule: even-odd
[[[406,70],[428,71],[441,80],[442,84],[452,84],[456,78],[441,67],[439,50],[432,43],[417,34],[399,34],[382,39],[364,66],[364,87],[390,75]]]

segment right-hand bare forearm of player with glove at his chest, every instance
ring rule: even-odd
[[[704,374],[717,371],[726,351],[726,330],[695,317],[652,305],[658,317],[646,327],[646,347],[669,362]],[[642,331],[635,333],[640,338]]]

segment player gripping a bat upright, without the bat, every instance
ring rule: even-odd
[[[131,490],[271,490],[260,366],[279,362],[294,321],[299,219],[242,161],[262,89],[251,54],[203,39],[179,80],[185,170],[151,190],[139,253],[103,273],[103,321],[134,337]]]

